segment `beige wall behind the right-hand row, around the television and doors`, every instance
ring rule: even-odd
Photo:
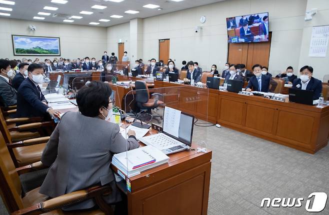
[[[276,74],[288,65],[298,66],[305,8],[306,0],[226,0],[144,18],[142,55],[137,57],[158,58],[158,40],[170,38],[170,58],[178,67],[182,60],[197,60],[203,70],[212,64],[221,68],[227,59],[225,18],[268,11],[272,31],[269,70]],[[207,20],[201,32],[195,33],[193,27],[201,25],[201,15]],[[108,27],[107,32],[115,34],[117,28],[129,30],[125,23]]]

